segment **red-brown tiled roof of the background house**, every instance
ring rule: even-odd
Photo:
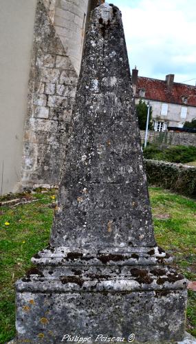
[[[174,82],[172,87],[168,88],[164,80],[138,77],[138,87],[135,97],[140,97],[139,92],[142,88],[145,90],[145,99],[185,105],[182,97],[187,97],[186,105],[196,106],[195,86]]]

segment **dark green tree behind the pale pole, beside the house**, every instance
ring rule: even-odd
[[[145,101],[142,101],[142,99],[140,99],[139,103],[136,104],[136,112],[138,116],[140,130],[146,130],[148,105],[146,104]],[[149,130],[153,130],[152,113],[153,113],[153,110],[152,110],[152,107],[150,106]]]

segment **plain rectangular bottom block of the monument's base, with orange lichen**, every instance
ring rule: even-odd
[[[154,291],[125,294],[55,292],[52,297],[45,292],[18,292],[17,304],[21,310],[17,318],[19,340],[61,343],[65,334],[74,336],[80,331],[83,337],[91,337],[89,344],[102,343],[101,339],[96,340],[100,333],[103,337],[109,334],[119,337],[121,334],[125,343],[128,343],[130,334],[135,334],[136,341],[142,343],[149,339],[157,343],[163,338],[166,343],[173,338],[180,341],[184,330],[185,300],[184,291],[168,292],[166,296],[164,292],[159,296]]]

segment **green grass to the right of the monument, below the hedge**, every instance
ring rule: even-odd
[[[150,188],[155,238],[175,256],[173,264],[190,281],[196,281],[196,202]],[[186,330],[196,336],[196,292],[188,291]]]

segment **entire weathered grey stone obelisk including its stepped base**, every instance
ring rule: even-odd
[[[186,280],[155,243],[113,5],[91,15],[50,244],[17,282],[19,343],[61,343],[68,335],[86,343],[128,342],[130,334],[139,343],[183,339]]]

